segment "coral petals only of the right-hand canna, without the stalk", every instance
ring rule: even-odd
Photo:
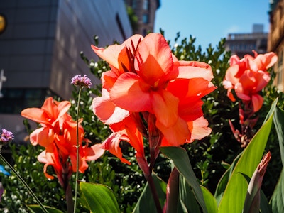
[[[237,55],[231,56],[223,85],[228,89],[227,95],[231,101],[236,101],[231,93],[234,89],[236,96],[244,102],[251,102],[253,111],[256,112],[263,104],[263,97],[258,93],[266,87],[271,78],[266,70],[275,64],[277,55],[272,52],[264,55],[258,55],[255,51],[253,53],[254,57],[245,55],[241,60]]]

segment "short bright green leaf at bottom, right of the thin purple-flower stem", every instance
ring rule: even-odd
[[[120,212],[114,193],[106,185],[91,182],[80,182],[82,198],[88,204],[91,212],[114,213]]]

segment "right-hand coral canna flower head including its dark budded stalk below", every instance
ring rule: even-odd
[[[275,53],[259,54],[253,51],[254,57],[244,55],[240,59],[237,55],[230,58],[230,67],[226,70],[223,81],[225,89],[228,89],[227,95],[232,102],[236,101],[232,90],[241,100],[239,103],[239,118],[241,131],[236,130],[229,121],[234,137],[241,143],[242,147],[246,147],[253,137],[253,126],[258,120],[254,116],[256,111],[261,109],[263,97],[259,94],[266,87],[271,79],[268,68],[272,67],[277,61]]]

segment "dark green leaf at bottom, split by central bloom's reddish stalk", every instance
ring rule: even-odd
[[[163,204],[165,203],[167,184],[163,180],[160,180],[160,178],[158,178],[155,174],[153,174],[153,180],[158,193],[158,197],[160,199],[160,204],[163,208]],[[145,185],[143,192],[141,193],[138,202],[136,203],[136,206],[133,209],[133,213],[143,212],[157,212],[148,182]]]

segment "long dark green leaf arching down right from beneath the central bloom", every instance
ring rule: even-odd
[[[204,202],[202,190],[197,182],[195,173],[190,165],[190,158],[188,158],[187,152],[181,147],[161,147],[160,151],[168,158],[173,160],[175,167],[179,173],[185,177],[187,183],[192,187],[192,191],[195,195],[197,202],[200,204],[203,212],[207,212],[206,205]]]

